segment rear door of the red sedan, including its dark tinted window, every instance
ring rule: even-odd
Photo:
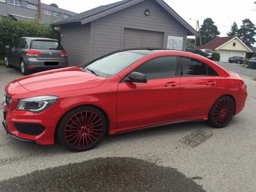
[[[181,87],[177,119],[202,118],[209,113],[223,86],[222,78],[205,63],[179,57]]]

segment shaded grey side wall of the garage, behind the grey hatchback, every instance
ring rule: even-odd
[[[68,53],[69,66],[82,65],[90,61],[90,42],[90,23],[61,27],[61,44]]]

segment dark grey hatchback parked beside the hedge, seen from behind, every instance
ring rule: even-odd
[[[68,67],[67,52],[57,39],[21,37],[5,47],[5,66],[18,67],[23,75],[33,70]]]

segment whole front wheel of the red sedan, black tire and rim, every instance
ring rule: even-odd
[[[99,109],[81,106],[63,116],[57,129],[63,146],[71,151],[81,152],[99,144],[106,133],[107,121]]]

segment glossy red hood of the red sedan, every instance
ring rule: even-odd
[[[86,73],[78,67],[44,71],[18,79],[18,83],[28,91],[57,93],[97,87],[105,78]]]

